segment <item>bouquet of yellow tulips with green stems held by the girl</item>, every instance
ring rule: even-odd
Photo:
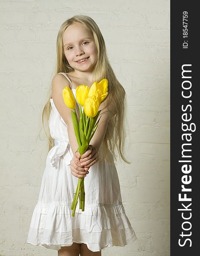
[[[74,95],[69,87],[63,89],[63,100],[68,108],[71,108],[71,117],[74,126],[74,133],[77,138],[78,149],[80,158],[89,146],[91,138],[93,137],[99,120],[97,118],[100,114],[99,105],[108,95],[108,80],[103,79],[99,83],[95,81],[91,88],[86,85],[80,84],[76,89],[76,99],[79,104],[80,121],[77,119],[75,111],[76,101]],[[81,109],[83,106],[83,111]],[[77,152],[76,151],[76,152]],[[84,177],[78,179],[76,193],[71,205],[72,216],[74,217],[77,201],[79,198],[79,208],[84,211],[85,207],[85,190],[84,190]]]

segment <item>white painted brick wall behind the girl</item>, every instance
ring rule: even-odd
[[[132,163],[117,163],[117,171],[139,241],[102,255],[169,256],[169,11],[169,0],[0,0],[1,256],[57,256],[26,239],[46,161],[46,138],[37,134],[57,32],[79,14],[100,27],[128,103]]]

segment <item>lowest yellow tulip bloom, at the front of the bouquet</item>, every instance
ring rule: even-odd
[[[92,118],[97,115],[98,110],[99,110],[98,98],[95,95],[88,97],[84,103],[84,111],[86,116]]]

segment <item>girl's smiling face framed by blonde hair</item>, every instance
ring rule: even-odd
[[[81,23],[70,25],[63,34],[64,53],[74,70],[91,71],[97,62],[97,49],[93,35]],[[81,59],[85,59],[78,62]]]

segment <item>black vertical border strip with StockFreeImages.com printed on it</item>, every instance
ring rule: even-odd
[[[198,245],[199,241],[199,228],[200,228],[200,179],[199,172],[200,168],[198,165],[198,159],[200,159],[200,134],[199,134],[199,119],[200,119],[200,94],[199,94],[199,79],[198,76],[200,74],[199,70],[199,26],[197,26],[197,21],[199,19],[199,9],[197,8],[197,2],[194,1],[171,1],[171,77],[170,77],[170,98],[171,98],[171,256],[193,256],[199,255]],[[188,12],[188,39],[183,38],[183,12]],[[188,41],[188,49],[183,49],[184,40]],[[187,69],[191,70],[191,79],[187,79],[191,81],[191,98],[184,99],[181,95],[182,93],[182,65],[183,64],[191,64],[191,67],[187,67]],[[189,92],[188,92],[189,93]],[[189,102],[191,100],[192,102]],[[182,131],[182,114],[183,112],[181,107],[184,105],[191,104],[191,112],[186,111],[189,115],[191,113],[191,121],[184,123],[194,123],[196,125],[196,131]],[[186,140],[182,140],[181,136],[183,133],[191,133],[192,140],[191,142],[186,142]],[[191,212],[191,219],[188,221],[191,222],[191,230],[185,231],[182,229],[182,224],[184,221],[182,218],[182,212],[178,211],[182,207],[181,203],[178,200],[178,194],[181,193],[181,185],[183,174],[181,167],[184,163],[180,163],[179,160],[183,160],[182,158],[182,144],[183,143],[191,143],[191,146],[188,146],[191,151],[188,152],[187,155],[191,155],[191,172],[188,175],[191,175],[191,183],[185,185],[187,188],[191,188],[191,192],[187,192],[187,197],[191,197],[191,202],[185,202],[185,205],[191,203],[191,211],[184,211],[185,216],[189,216],[189,212]],[[187,158],[187,160],[189,160]],[[186,163],[185,163],[186,164]],[[184,194],[184,192],[182,192]],[[183,197],[183,196],[182,196]],[[189,208],[189,207],[188,207]],[[189,228],[189,224],[184,226]],[[189,234],[191,232],[191,236],[184,236],[183,238],[180,236],[182,233]],[[181,247],[178,242],[181,239],[181,243],[183,244],[185,239],[191,239],[191,247],[190,242],[186,241],[185,245]]]

